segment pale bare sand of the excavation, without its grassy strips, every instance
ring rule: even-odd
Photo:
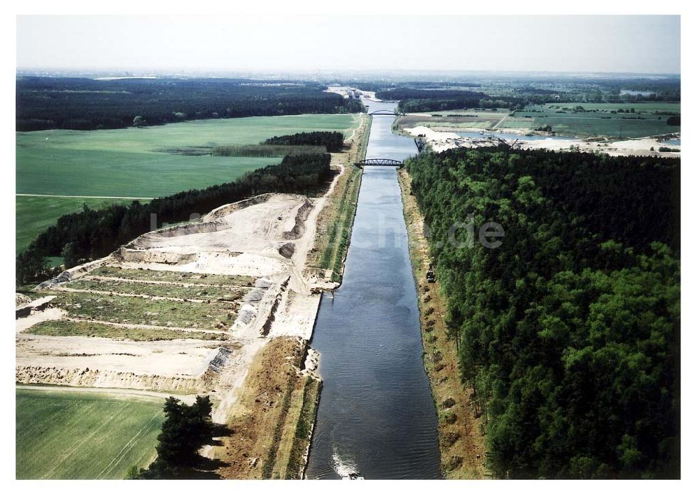
[[[82,295],[114,295],[122,299],[133,298],[134,301],[152,299],[165,304],[166,298],[151,296],[147,289],[151,287],[149,285],[157,285],[158,292],[152,293],[162,294],[163,285],[171,285],[174,294],[191,286],[177,282],[177,273],[252,276],[256,282],[251,287],[242,288],[243,296],[237,305],[234,324],[230,328],[209,331],[215,336],[225,335],[224,340],[135,341],[84,334],[33,334],[32,326],[40,322],[65,321],[75,317],[71,315],[72,311],[87,311],[84,305],[78,304],[82,310],[75,310],[75,303],[73,308],[64,308],[49,301],[48,308],[17,319],[17,382],[208,393],[216,405],[214,419],[225,421],[228,410],[237,400],[237,390],[244,383],[248,367],[269,340],[279,336],[305,340],[311,337],[320,303],[315,285],[327,282],[316,276],[308,280],[304,271],[308,251],[313,248],[315,223],[325,200],[326,195],[319,198],[259,195],[221,206],[198,221],[149,232],[104,259],[66,271],[44,285],[40,294],[67,292],[78,298]],[[100,277],[102,267],[110,268],[114,273],[110,271],[108,277]],[[143,270],[135,272],[133,269]],[[149,273],[158,274],[158,277],[149,280]],[[168,273],[175,274],[172,281],[163,276]],[[119,281],[130,284],[132,289],[128,294],[118,294],[111,290],[101,291],[99,287],[87,290],[70,288],[71,283],[81,278],[105,284]],[[206,278],[195,280],[203,283],[197,284],[200,287],[210,283]],[[144,293],[135,294],[138,291]],[[20,300],[21,306],[27,306],[26,299]],[[41,303],[46,300],[47,296],[41,296]],[[208,304],[205,299],[187,301],[188,304]],[[81,322],[103,324],[107,330],[109,326],[122,330],[129,328],[153,336],[157,336],[161,329],[182,330],[176,324],[168,324],[168,327],[124,324],[124,317],[119,315],[118,318],[121,322],[110,321],[101,315],[100,310],[93,317],[88,316],[87,320],[80,317]]]

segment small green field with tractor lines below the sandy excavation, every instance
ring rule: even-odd
[[[162,398],[17,389],[17,479],[124,479],[155,456]]]

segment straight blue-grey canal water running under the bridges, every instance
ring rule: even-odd
[[[369,112],[395,103],[364,102]],[[366,158],[416,153],[373,117]],[[435,479],[436,409],[422,361],[417,293],[396,170],[366,167],[343,283],[322,296],[313,340],[323,379],[308,479]]]

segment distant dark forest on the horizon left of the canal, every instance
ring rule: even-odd
[[[189,119],[361,112],[311,82],[241,79],[17,78],[18,131],[94,130]]]

